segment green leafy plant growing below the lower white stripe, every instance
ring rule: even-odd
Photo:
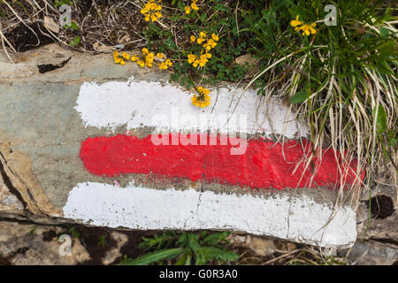
[[[229,244],[226,237],[229,233],[173,233],[157,234],[153,238],[142,237],[139,248],[149,251],[144,256],[129,259],[125,256],[121,264],[145,265],[163,264],[165,260],[173,260],[176,265],[208,264],[217,261],[218,264],[232,262],[239,258],[233,251],[226,250]]]

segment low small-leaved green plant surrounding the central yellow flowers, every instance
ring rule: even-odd
[[[174,72],[171,80],[186,87],[192,87],[193,81],[207,84],[220,80],[241,80],[247,67],[235,64],[234,59],[246,54],[249,46],[249,37],[239,34],[238,30],[238,21],[244,21],[246,10],[221,0],[198,4],[199,10],[191,10],[189,14],[185,13],[186,1],[175,0],[170,5],[173,13],[170,15],[171,11],[167,9],[165,12],[169,13],[176,29],[165,29],[157,23],[150,23],[142,34],[149,49],[160,50],[172,59]],[[205,68],[195,68],[188,64],[187,57],[191,52],[198,54],[201,47],[191,44],[189,37],[195,35],[197,38],[201,32],[220,34],[220,40],[211,50],[211,59]]]

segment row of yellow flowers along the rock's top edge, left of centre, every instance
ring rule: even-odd
[[[144,66],[151,68],[155,60],[155,53],[149,52],[147,48],[143,48],[142,55],[143,57],[140,58],[137,56],[128,55],[126,52],[122,52],[121,54],[119,54],[118,51],[113,51],[113,59],[115,60],[116,64],[125,65],[126,61],[131,60],[133,62],[136,62],[142,68]],[[163,60],[157,64],[160,70],[166,70],[170,66],[172,66],[172,61],[170,59],[166,59],[165,54],[157,53],[156,58],[158,61]]]

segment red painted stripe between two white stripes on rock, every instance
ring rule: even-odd
[[[170,134],[169,138],[177,135]],[[208,138],[207,135],[203,137]],[[309,186],[310,168],[304,172],[302,163],[293,174],[295,165],[303,156],[299,142],[285,142],[283,152],[286,159],[281,144],[262,139],[249,141],[247,150],[242,155],[231,155],[230,149],[233,146],[229,142],[220,145],[219,136],[217,144],[155,145],[151,142],[150,135],[143,139],[131,135],[100,136],[88,138],[81,143],[80,158],[88,172],[107,177],[126,173],[155,173],[169,178],[217,181],[251,188]],[[308,142],[303,142],[303,146],[310,150]],[[318,158],[315,158],[314,164],[317,163]],[[356,164],[351,166],[347,184],[354,181]],[[333,150],[328,149],[324,152],[310,187],[333,188],[339,183],[340,177]]]

